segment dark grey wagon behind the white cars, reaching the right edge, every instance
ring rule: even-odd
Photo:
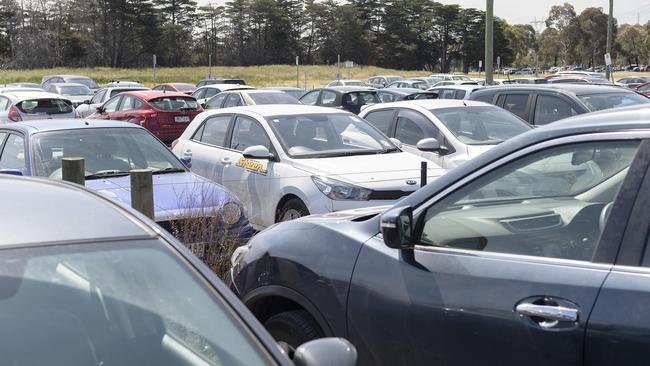
[[[631,90],[583,84],[495,86],[477,90],[469,99],[492,103],[538,126],[578,114],[650,103]]]

